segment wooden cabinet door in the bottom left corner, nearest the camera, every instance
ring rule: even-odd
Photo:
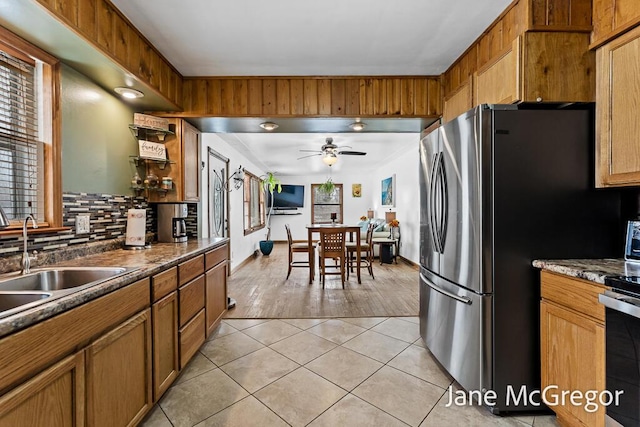
[[[84,384],[80,352],[0,397],[0,426],[84,426]]]

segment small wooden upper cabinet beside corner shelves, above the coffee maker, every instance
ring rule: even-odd
[[[167,135],[164,145],[166,165],[148,163],[147,172],[159,179],[171,177],[173,190],[150,191],[150,202],[197,202],[200,199],[200,131],[182,119],[169,119],[175,135]]]

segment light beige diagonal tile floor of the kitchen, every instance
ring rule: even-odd
[[[143,426],[557,426],[446,407],[415,317],[225,319]]]

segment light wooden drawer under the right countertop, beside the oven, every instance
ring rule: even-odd
[[[598,295],[608,289],[606,286],[548,271],[543,271],[540,278],[543,299],[604,323],[604,306],[598,302]]]

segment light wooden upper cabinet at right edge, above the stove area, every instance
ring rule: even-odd
[[[640,27],[596,52],[596,185],[640,184]]]

